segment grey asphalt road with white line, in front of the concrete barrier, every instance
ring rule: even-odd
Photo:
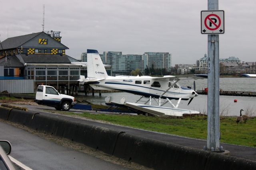
[[[12,144],[10,156],[35,170],[128,169],[94,156],[58,145],[23,129],[0,121],[0,139]]]

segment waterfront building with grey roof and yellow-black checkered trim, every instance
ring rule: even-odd
[[[78,86],[87,76],[87,63],[65,54],[59,31],[45,31],[10,37],[0,45],[0,79],[32,79],[39,84]],[[111,75],[111,66],[105,65]]]

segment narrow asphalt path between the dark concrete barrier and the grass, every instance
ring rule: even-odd
[[[87,123],[88,125],[107,127],[107,128],[115,129],[118,131],[124,131],[126,133],[130,133],[133,135],[139,135],[142,137],[156,139],[156,140],[164,141],[164,142],[168,142],[168,143],[174,143],[174,144],[178,144],[178,145],[182,145],[182,146],[186,146],[186,147],[203,149],[203,147],[207,145],[207,141],[201,140],[201,139],[190,139],[190,138],[186,138],[186,137],[178,137],[175,135],[169,135],[169,134],[165,134],[165,133],[145,131],[145,130],[141,130],[141,129],[135,129],[135,128],[130,128],[130,127],[106,124],[106,123],[99,123],[96,121],[88,121],[88,120],[83,120],[83,119],[77,119],[74,117],[67,117],[64,115],[56,115],[56,114],[52,114],[52,113],[42,112],[42,109],[47,110],[47,112],[55,111],[54,107],[40,106],[40,105],[38,105],[38,106],[20,105],[20,106],[27,107],[30,111],[36,111],[36,113],[40,113],[40,114],[44,114],[44,115],[48,115],[48,116],[52,116],[52,117],[61,117],[63,119]],[[78,109],[70,109],[70,111],[89,112],[89,111],[78,110]],[[90,111],[90,112],[99,113],[96,111]],[[106,112],[106,113],[108,113],[108,112]],[[254,147],[245,147],[245,146],[231,145],[231,144],[226,144],[226,143],[220,143],[220,146],[222,146],[224,150],[230,151],[230,155],[232,155],[232,156],[246,158],[246,159],[256,161],[256,148],[254,148]]]

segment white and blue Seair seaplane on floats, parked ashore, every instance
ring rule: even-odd
[[[126,102],[124,98],[120,103],[127,107],[132,107],[150,113],[153,115],[173,115],[182,116],[183,114],[199,114],[199,111],[178,109],[181,100],[189,100],[188,104],[194,97],[198,96],[195,89],[181,87],[179,80],[175,76],[108,76],[97,50],[87,49],[87,78],[80,76],[79,84],[87,83],[94,90],[121,90],[132,94],[140,95],[141,98],[135,103]],[[195,88],[195,85],[194,85]],[[142,102],[142,98],[148,100]],[[153,106],[152,99],[155,99],[158,106]],[[163,102],[161,101],[163,100]],[[157,101],[158,100],[158,101]],[[170,100],[178,100],[175,105]],[[117,104],[111,98],[106,98],[108,104]],[[149,102],[149,104],[148,104]],[[166,103],[172,107],[164,107]]]

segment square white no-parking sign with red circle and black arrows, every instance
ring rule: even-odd
[[[212,10],[201,11],[201,33],[223,34],[224,33],[224,11]]]

